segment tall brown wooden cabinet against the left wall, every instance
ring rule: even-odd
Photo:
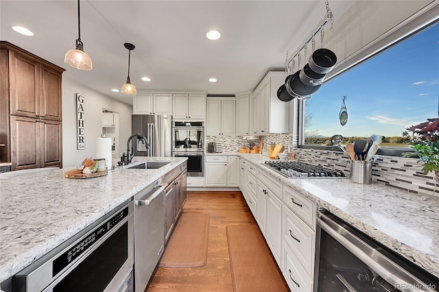
[[[1,46],[1,162],[12,170],[62,167],[62,69],[9,42]]]

